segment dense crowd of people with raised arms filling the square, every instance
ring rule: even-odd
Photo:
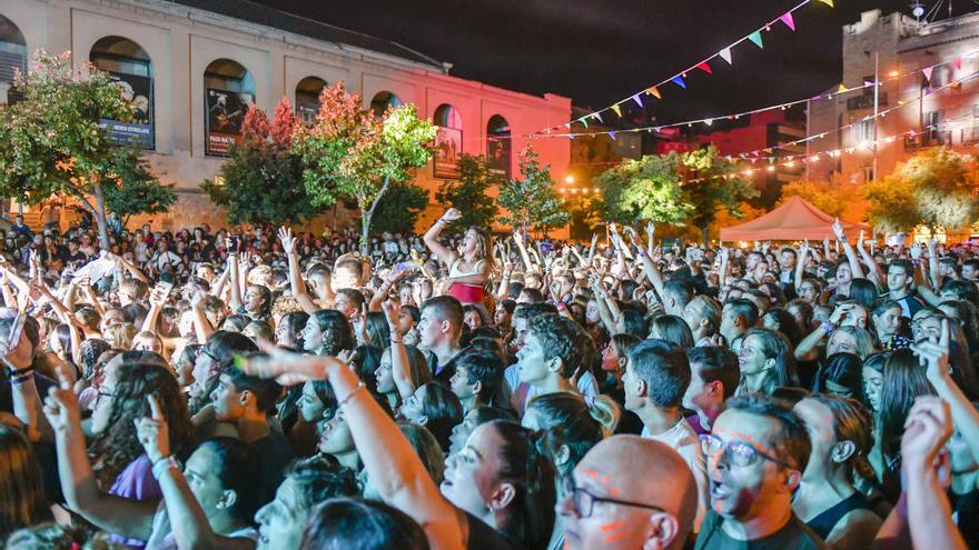
[[[979,249],[2,234],[13,549],[979,548]]]

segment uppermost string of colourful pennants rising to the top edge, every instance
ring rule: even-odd
[[[791,31],[794,32],[795,31],[795,18],[793,17],[793,13],[795,11],[802,9],[804,6],[811,3],[812,1],[822,2],[827,6],[829,6],[830,8],[833,7],[833,0],[802,0],[794,8],[790,9],[789,11],[783,12],[781,16],[762,24],[761,27],[759,27],[754,31],[750,32],[749,34],[735,40],[734,42],[731,42],[730,44],[722,48],[718,52],[715,52],[711,56],[708,56],[706,58],[704,58],[704,59],[700,60],[699,62],[688,67],[686,69],[678,72],[676,74],[673,74],[670,78],[666,78],[666,79],[664,79],[655,84],[652,84],[650,87],[646,87],[635,93],[630,94],[629,97],[625,97],[625,98],[612,103],[609,107],[593,111],[589,114],[585,114],[584,117],[580,117],[580,118],[574,119],[570,122],[565,122],[564,124],[551,127],[551,128],[547,128],[544,130],[538,130],[536,132],[531,132],[531,133],[526,134],[525,137],[532,137],[532,136],[538,136],[538,134],[551,134],[555,131],[560,131],[561,128],[571,129],[571,124],[573,124],[575,122],[578,122],[578,123],[583,124],[585,128],[587,128],[589,120],[596,120],[599,122],[604,122],[604,119],[602,118],[602,116],[607,114],[610,112],[614,112],[619,118],[622,118],[622,107],[623,106],[631,103],[631,102],[635,102],[640,108],[642,108],[644,97],[653,97],[659,100],[662,100],[663,94],[662,94],[660,88],[664,87],[666,84],[670,84],[670,83],[673,83],[673,84],[685,90],[691,72],[699,71],[699,72],[702,72],[705,74],[713,74],[714,71],[711,68],[711,64],[710,64],[711,61],[714,61],[718,58],[720,58],[720,59],[723,59],[728,64],[734,64],[734,58],[732,57],[732,53],[731,53],[731,51],[734,47],[736,47],[741,43],[744,43],[744,42],[752,42],[754,46],[756,46],[759,48],[764,48],[764,42],[762,40],[762,32],[763,31],[765,31],[765,32],[771,31],[773,26],[782,23],[785,27],[788,27]]]

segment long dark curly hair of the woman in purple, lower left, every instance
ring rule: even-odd
[[[174,454],[186,459],[196,439],[187,400],[164,358],[151,351],[127,351],[120,356],[112,410],[106,430],[89,447],[96,477],[103,489],[142,454],[134,421],[150,416],[147,396],[154,396],[167,419]]]

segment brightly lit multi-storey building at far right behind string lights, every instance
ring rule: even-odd
[[[891,173],[923,148],[976,152],[979,142],[979,13],[919,23],[901,13],[863,12],[843,27],[843,82],[809,107],[811,179],[861,183]],[[831,99],[827,99],[831,96]],[[874,117],[877,112],[886,112]],[[840,131],[840,128],[849,127]],[[874,146],[876,143],[876,146]]]

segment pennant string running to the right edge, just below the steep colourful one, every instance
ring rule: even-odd
[[[560,133],[550,133],[550,134],[534,134],[534,136],[532,136],[532,138],[533,139],[542,139],[542,138],[575,139],[575,138],[581,138],[581,137],[591,138],[591,137],[596,137],[596,136],[609,136],[610,139],[614,140],[614,139],[616,139],[616,137],[620,133],[641,133],[641,132],[656,132],[656,133],[659,133],[663,130],[671,129],[671,128],[682,128],[682,127],[692,128],[694,124],[704,124],[704,126],[710,127],[710,126],[713,126],[714,122],[720,121],[720,120],[738,120],[741,117],[758,114],[758,113],[765,112],[765,111],[773,111],[775,109],[785,110],[785,109],[789,109],[789,108],[792,108],[792,107],[795,107],[799,104],[803,104],[803,103],[809,103],[812,101],[832,100],[835,97],[846,96],[846,94],[854,93],[854,92],[861,92],[868,88],[873,88],[874,86],[882,87],[888,82],[893,82],[897,80],[906,79],[906,78],[912,77],[917,73],[921,73],[924,77],[926,81],[931,82],[931,74],[936,68],[948,64],[948,63],[952,63],[956,67],[956,69],[961,70],[962,60],[968,59],[968,58],[972,58],[976,56],[979,56],[979,50],[972,50],[970,52],[958,56],[953,59],[946,59],[946,60],[939,61],[937,63],[932,63],[928,67],[922,67],[919,69],[909,70],[907,72],[899,73],[897,71],[891,71],[887,78],[884,78],[882,80],[878,80],[876,82],[866,80],[866,81],[863,81],[862,84],[854,86],[852,88],[847,88],[844,84],[841,83],[834,92],[830,92],[827,94],[820,93],[820,94],[812,96],[812,97],[805,97],[805,98],[795,99],[792,101],[787,101],[783,103],[775,103],[775,104],[771,104],[771,106],[767,106],[767,107],[760,107],[760,108],[751,109],[751,110],[746,110],[746,111],[739,111],[739,112],[732,112],[732,113],[728,113],[728,114],[720,114],[720,116],[715,116],[715,117],[708,117],[708,118],[701,118],[701,119],[690,119],[690,120],[683,120],[680,122],[671,122],[671,123],[666,123],[666,124],[655,124],[655,126],[647,126],[647,127],[641,127],[641,128],[627,128],[627,129],[621,129],[621,130],[593,130],[593,131],[586,131],[586,132],[560,132]],[[927,93],[931,93],[934,90],[932,90],[931,88],[928,88]]]

